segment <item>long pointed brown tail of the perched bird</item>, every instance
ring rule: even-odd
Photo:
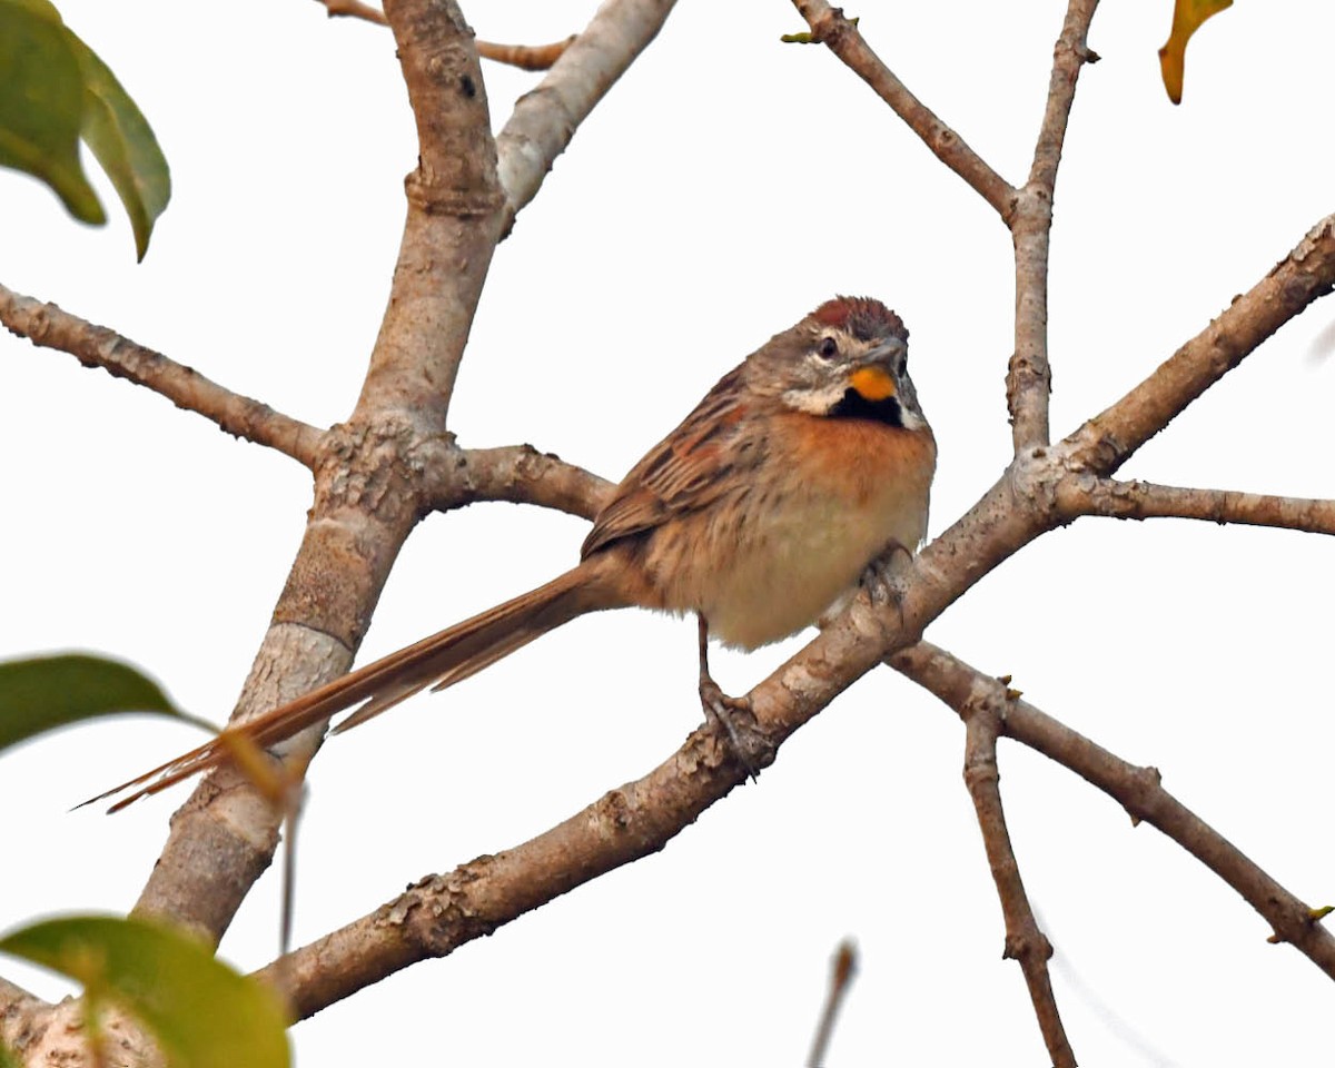
[[[109,812],[117,812],[140,797],[166,790],[226,762],[231,752],[228,742],[238,736],[268,746],[360,705],[336,728],[336,732],[343,732],[364,724],[427,686],[453,686],[577,615],[623,607],[627,602],[618,593],[615,582],[609,581],[605,565],[606,559],[602,557],[587,559],[545,586],[335,678],[254,720],[231,726],[198,749],[83,804],[91,805],[134,789],[134,793],[111,806]]]

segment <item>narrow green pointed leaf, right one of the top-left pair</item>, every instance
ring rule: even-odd
[[[154,222],[171,199],[167,159],[144,113],[93,51],[65,31],[84,81],[83,139],[120,195],[143,260]]]

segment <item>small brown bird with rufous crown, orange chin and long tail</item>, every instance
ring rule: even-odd
[[[631,606],[698,617],[701,701],[737,742],[736,702],[709,674],[709,638],[748,650],[786,638],[856,590],[877,559],[912,555],[926,537],[934,471],[902,319],[873,298],[825,300],[724,375],[630,469],[569,571],[92,800],[138,788],[115,812],[215,768],[231,760],[235,736],[270,746],[355,709],[335,728],[347,730],[578,615]]]

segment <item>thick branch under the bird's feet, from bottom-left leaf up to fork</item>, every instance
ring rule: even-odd
[[[865,595],[854,598],[748,694],[756,721],[748,734],[760,744],[760,752],[753,750],[757,766],[770,764],[784,740],[892,649],[914,641],[924,621],[940,614],[959,591],[1041,533],[1035,513],[1016,507],[1012,494],[1013,485],[1004,478],[929,545],[906,577],[898,603],[873,606]],[[308,1016],[662,849],[746,774],[712,729],[697,730],[643,778],[611,790],[523,845],[418,884],[376,912],[275,961],[260,976],[283,991],[298,1017]]]

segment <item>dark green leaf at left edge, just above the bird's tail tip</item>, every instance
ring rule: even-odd
[[[0,749],[117,712],[158,712],[198,722],[128,663],[83,653],[0,663]]]

